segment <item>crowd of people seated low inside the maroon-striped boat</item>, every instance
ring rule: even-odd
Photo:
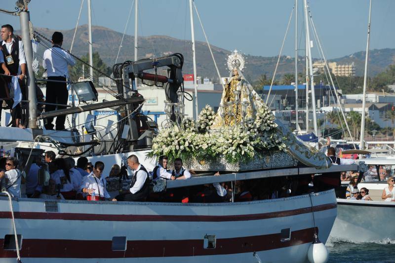
[[[183,167],[182,159],[173,162],[173,170],[168,170],[168,158],[160,156],[158,166],[152,172],[140,164],[136,155],[127,158],[127,167],[132,170],[128,186],[110,195],[107,189],[108,178],[122,178],[126,168],[113,165],[109,176],[104,176],[105,164],[97,161],[92,165],[86,157],[75,160],[71,157],[56,158],[53,151],[33,158],[26,175],[18,169],[18,160],[14,157],[0,159],[0,181],[2,190],[12,197],[24,197],[21,185],[25,187],[28,198],[68,199],[92,201],[152,201],[180,203],[216,203],[243,202],[288,197],[307,193],[311,175],[290,177],[259,178],[236,182],[215,182],[204,185],[167,189],[154,193],[152,182],[155,180],[188,180],[196,175]],[[23,170],[23,169],[21,169]],[[215,176],[220,176],[217,172]]]

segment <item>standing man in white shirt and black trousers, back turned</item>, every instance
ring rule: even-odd
[[[46,69],[48,82],[46,84],[45,99],[48,103],[56,103],[66,105],[69,98],[69,91],[67,90],[66,78],[69,77],[68,65],[74,66],[76,62],[74,58],[64,51],[61,46],[63,44],[63,34],[54,32],[52,35],[51,48],[44,51],[44,58],[42,60],[42,67]],[[58,81],[58,82],[51,82]],[[61,82],[59,82],[61,81]],[[45,111],[53,111],[65,109],[65,106],[45,105]],[[56,131],[65,129],[66,115],[56,117]],[[53,117],[45,119],[45,129],[53,130]]]

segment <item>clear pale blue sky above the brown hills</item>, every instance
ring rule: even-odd
[[[123,32],[133,0],[92,0],[92,25]],[[74,29],[81,0],[31,0],[34,27]],[[285,35],[295,0],[195,0],[210,44],[245,54],[276,56]],[[15,0],[2,0],[1,8],[13,10]],[[299,0],[298,35],[304,38],[303,1]],[[368,0],[310,0],[317,33],[327,58],[366,49]],[[84,0],[79,25],[87,24]],[[191,39],[189,0],[139,0],[138,35],[167,35]],[[372,1],[370,49],[395,48],[395,0]],[[294,57],[295,24],[292,17],[282,54]],[[205,41],[196,13],[195,39]],[[0,13],[0,23],[19,29],[19,17]],[[126,34],[134,35],[134,10]],[[94,41],[94,36],[93,36]],[[304,43],[300,40],[298,43]],[[316,43],[315,43],[316,45]],[[299,46],[298,48],[303,49]],[[303,55],[304,51],[300,51]],[[318,57],[317,49],[313,56]]]

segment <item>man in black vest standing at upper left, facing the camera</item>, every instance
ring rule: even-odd
[[[22,91],[22,99],[26,99],[26,94],[24,90],[25,85],[22,81],[26,77],[27,67],[22,41],[14,36],[14,29],[11,25],[8,24],[1,26],[1,39],[3,40],[1,42],[1,47],[3,49],[5,65],[9,70],[10,75],[19,77],[19,86]],[[12,106],[12,103],[8,105]],[[24,126],[20,123],[22,118],[22,109],[20,103],[17,104],[15,108],[11,109],[11,116],[12,127],[24,128]]]

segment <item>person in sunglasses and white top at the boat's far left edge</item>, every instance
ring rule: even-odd
[[[21,197],[21,172],[17,166],[18,160],[8,157],[5,161],[5,172],[0,172],[0,180],[5,183],[5,189],[12,197]]]

